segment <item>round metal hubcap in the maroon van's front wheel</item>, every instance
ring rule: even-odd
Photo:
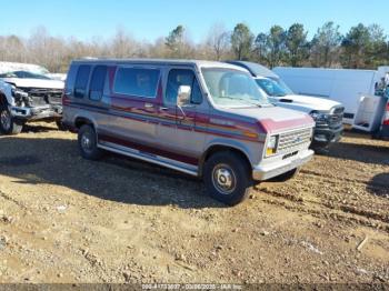
[[[215,167],[212,182],[215,188],[222,194],[230,194],[236,189],[236,177],[232,169],[227,164]]]

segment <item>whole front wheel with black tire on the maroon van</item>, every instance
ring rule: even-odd
[[[248,162],[230,151],[215,153],[207,160],[203,180],[208,194],[228,205],[243,201],[253,184]]]

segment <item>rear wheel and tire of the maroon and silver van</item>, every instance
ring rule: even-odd
[[[81,157],[87,160],[99,160],[102,151],[97,147],[97,134],[90,124],[83,124],[78,132],[78,146]]]

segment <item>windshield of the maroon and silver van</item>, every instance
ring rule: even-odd
[[[250,74],[232,69],[202,69],[202,74],[216,104],[227,107],[269,106]]]

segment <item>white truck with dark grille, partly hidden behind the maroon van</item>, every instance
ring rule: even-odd
[[[259,89],[269,100],[279,107],[302,111],[316,121],[311,148],[327,151],[331,143],[338,142],[343,133],[343,111],[341,103],[333,100],[296,94],[282,79],[268,68],[246,61],[228,61],[248,70]]]

